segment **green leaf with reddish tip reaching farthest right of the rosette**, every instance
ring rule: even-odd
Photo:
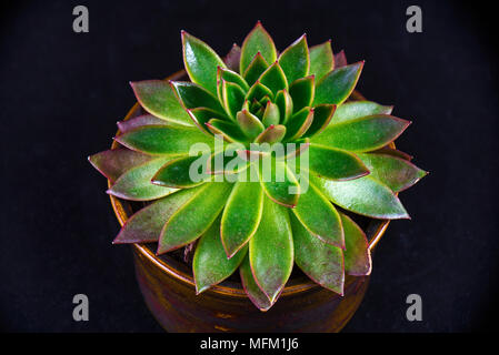
[[[359,154],[371,172],[371,178],[381,181],[393,192],[406,190],[427,175],[407,160],[377,153]]]

